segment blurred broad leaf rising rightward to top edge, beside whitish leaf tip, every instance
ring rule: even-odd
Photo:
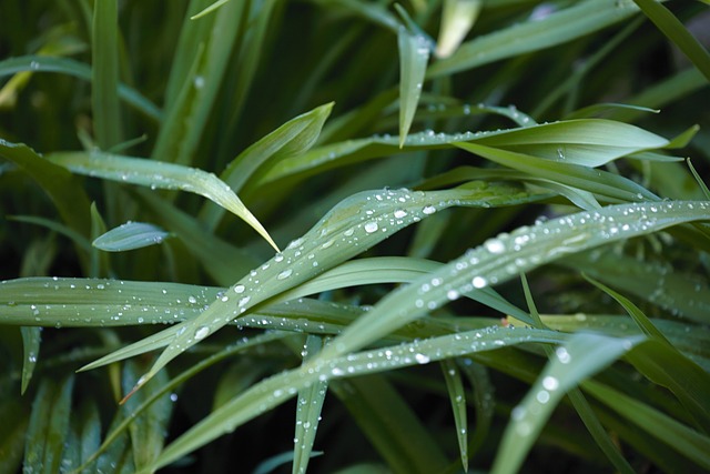
[[[638,7],[628,1],[576,2],[541,20],[529,19],[465,42],[454,54],[432,64],[428,75],[432,78],[449,75],[501,59],[561,44],[623,21],[636,12]]]

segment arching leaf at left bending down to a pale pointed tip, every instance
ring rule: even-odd
[[[278,249],[232,189],[217,177],[196,168],[108,153],[53,153],[50,161],[78,174],[87,174],[151,189],[181,190],[200,194],[237,215]]]

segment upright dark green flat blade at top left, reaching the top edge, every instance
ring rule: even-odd
[[[119,104],[119,2],[102,0],[93,7],[91,108],[97,143],[102,150],[121,143]]]

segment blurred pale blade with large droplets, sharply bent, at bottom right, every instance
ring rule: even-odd
[[[556,350],[557,360],[548,364],[525,400],[513,410],[491,472],[517,472],[565,393],[607,367],[641,341],[641,337],[615,339],[579,333],[559,346]]]

